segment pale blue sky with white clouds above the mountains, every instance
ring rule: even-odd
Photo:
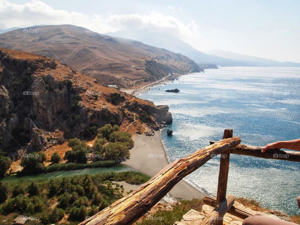
[[[94,32],[163,29],[197,50],[300,63],[300,0],[0,0],[0,29],[72,24]]]

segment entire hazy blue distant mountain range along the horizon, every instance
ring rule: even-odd
[[[283,66],[299,67],[300,63],[277,62],[273,60],[240,55],[237,53],[212,50],[203,53],[179,38],[163,30],[148,29],[136,31],[118,31],[107,33],[112,37],[123,37],[141,41],[155,47],[165,48],[175,53],[181,53],[191,58],[198,64],[215,64],[217,66]]]

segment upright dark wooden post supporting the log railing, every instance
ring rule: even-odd
[[[223,139],[232,138],[232,134],[233,134],[232,129],[225,129]],[[229,170],[229,155],[230,155],[230,149],[227,149],[221,153],[218,190],[217,190],[217,205],[220,204],[220,202],[222,202],[226,197],[227,179],[228,179],[228,170]],[[218,220],[216,224],[222,225],[223,220]]]

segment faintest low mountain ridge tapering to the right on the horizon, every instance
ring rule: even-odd
[[[238,53],[233,53],[230,51],[223,51],[221,49],[214,49],[212,51],[206,52],[210,55],[215,55],[218,57],[229,58],[232,60],[241,60],[244,62],[248,62],[252,66],[281,66],[281,67],[299,67],[300,63],[293,63],[293,62],[277,62],[274,60],[242,55]]]

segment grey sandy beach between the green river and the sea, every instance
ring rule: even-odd
[[[136,170],[142,171],[149,176],[155,176],[162,168],[169,164],[166,153],[161,142],[160,131],[156,131],[152,137],[144,134],[134,139],[134,147],[130,150],[130,159],[123,162]],[[173,198],[203,198],[205,195],[181,180],[170,191]]]

